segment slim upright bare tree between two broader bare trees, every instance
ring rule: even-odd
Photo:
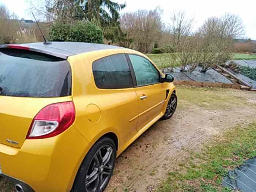
[[[178,46],[183,37],[192,34],[193,18],[187,18],[185,11],[173,11],[170,20],[169,33],[172,35],[173,45]]]

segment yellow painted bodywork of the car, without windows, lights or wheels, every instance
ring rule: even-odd
[[[3,174],[26,182],[36,192],[69,192],[81,162],[99,138],[114,133],[118,138],[117,155],[120,155],[163,116],[170,94],[175,90],[173,83],[117,90],[95,86],[92,63],[110,54],[124,52],[144,56],[129,49],[109,49],[69,57],[72,96],[0,96],[0,165]],[[167,89],[170,94],[166,99]],[[143,94],[147,95],[146,99],[140,99]],[[75,104],[74,124],[53,138],[27,140],[34,116],[44,106],[64,101]],[[18,144],[8,143],[6,139]]]

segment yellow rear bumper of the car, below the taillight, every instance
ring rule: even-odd
[[[28,192],[69,192],[89,147],[74,127],[53,138],[25,140],[21,148],[0,144],[1,174]]]

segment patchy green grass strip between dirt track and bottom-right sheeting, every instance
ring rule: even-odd
[[[231,192],[222,187],[222,177],[255,156],[256,123],[238,124],[216,136],[200,153],[191,153],[182,166],[169,172],[156,192]]]

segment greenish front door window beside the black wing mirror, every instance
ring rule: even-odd
[[[159,71],[146,58],[129,54],[138,86],[160,82]]]

